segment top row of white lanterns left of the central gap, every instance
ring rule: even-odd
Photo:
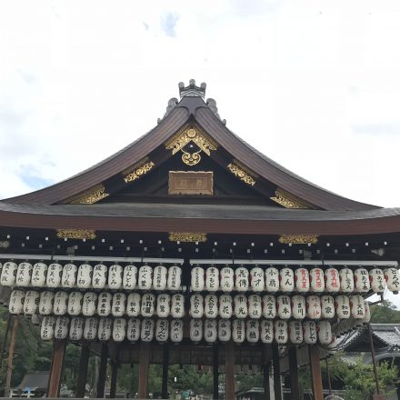
[[[109,289],[118,290],[179,290],[181,287],[182,268],[172,265],[168,268],[157,265],[154,268],[142,265],[98,265],[64,266],[58,263],[46,265],[24,262],[17,265],[8,261],[3,265],[0,285],[19,287],[65,287],[79,289]]]

